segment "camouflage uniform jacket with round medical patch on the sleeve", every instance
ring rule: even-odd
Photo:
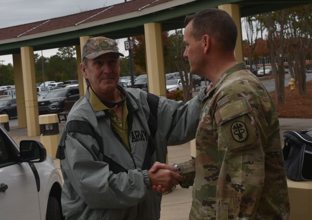
[[[189,218],[289,219],[279,129],[270,95],[245,64],[226,70],[202,102],[196,160],[179,164],[181,186],[193,185]]]

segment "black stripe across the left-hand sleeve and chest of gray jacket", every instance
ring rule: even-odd
[[[60,160],[65,158],[65,153],[64,153],[65,147],[66,147],[65,139],[66,139],[66,134],[68,132],[77,132],[80,134],[86,134],[86,135],[90,135],[94,137],[99,146],[99,151],[103,155],[103,161],[109,165],[109,170],[112,171],[114,174],[118,174],[120,172],[128,173],[128,170],[126,170],[124,167],[116,163],[114,160],[104,155],[104,151],[103,151],[104,146],[103,146],[102,137],[99,136],[97,132],[95,132],[94,128],[88,122],[84,122],[84,121],[73,120],[67,123],[66,130],[65,130],[64,145],[57,147],[56,158]]]

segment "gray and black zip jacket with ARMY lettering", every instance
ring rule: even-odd
[[[127,97],[130,152],[108,112],[92,108],[88,89],[67,117],[57,156],[68,220],[159,219],[161,194],[150,190],[147,170],[156,161],[166,163],[168,145],[195,138],[206,87],[186,104],[119,88]]]

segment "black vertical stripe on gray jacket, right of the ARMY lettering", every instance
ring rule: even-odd
[[[152,93],[148,93],[147,103],[148,103],[148,107],[150,108],[150,115],[148,117],[147,124],[148,124],[148,128],[150,129],[151,135],[148,138],[148,144],[147,144],[147,149],[145,152],[145,158],[143,161],[142,170],[151,169],[151,165],[152,165],[151,156],[154,154],[156,150],[154,138],[157,132],[157,110],[158,110],[159,97]]]

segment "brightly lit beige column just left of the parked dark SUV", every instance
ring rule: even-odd
[[[39,110],[33,47],[21,47],[28,136],[39,136]]]

